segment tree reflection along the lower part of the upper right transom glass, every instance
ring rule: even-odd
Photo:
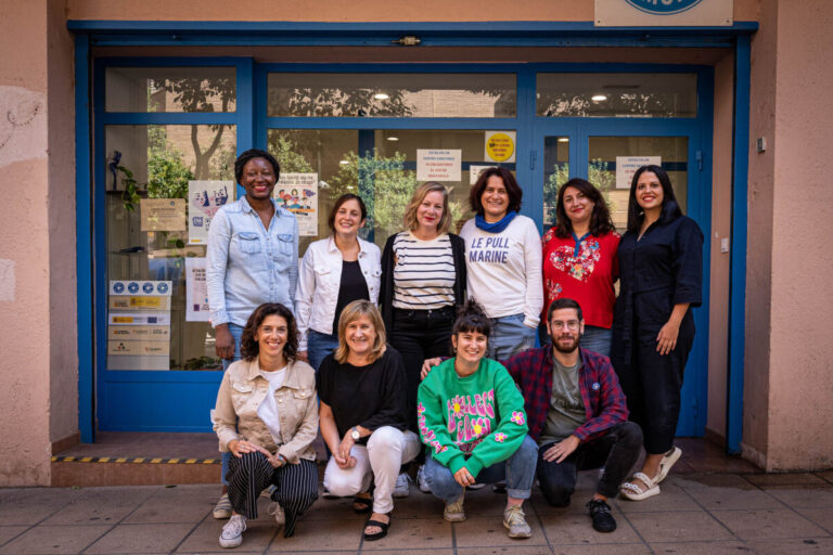
[[[593,102],[588,93],[539,91],[537,112],[548,117],[607,115],[672,117],[679,109],[677,104],[677,93],[612,92],[607,94],[607,100]]]

